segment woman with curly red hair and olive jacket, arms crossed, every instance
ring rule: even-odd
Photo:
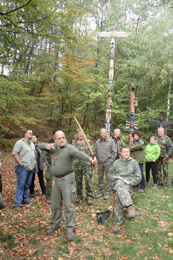
[[[132,133],[133,136],[133,141],[129,142],[129,148],[130,148],[130,156],[135,159],[140,167],[141,175],[142,175],[142,180],[138,185],[136,185],[136,189],[139,188],[140,185],[140,190],[139,192],[144,192],[145,190],[145,179],[144,179],[144,172],[143,172],[143,164],[146,163],[145,161],[145,149],[144,149],[144,141],[140,139],[141,133],[140,131],[134,131]]]

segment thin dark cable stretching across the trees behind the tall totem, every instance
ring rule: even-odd
[[[0,40],[0,42],[6,42],[6,41],[2,41]],[[6,42],[8,43],[8,42]],[[19,45],[19,46],[22,46],[22,47],[27,47],[27,45],[22,45],[22,44],[18,44],[18,43],[13,43],[14,45]],[[44,50],[44,49],[40,49],[40,48],[35,48],[36,50],[40,50],[40,51],[46,51],[46,52],[51,52],[51,53],[56,53],[55,51],[48,51],[48,50]],[[58,52],[59,55],[64,55],[64,56],[69,56],[69,57],[73,57],[73,58],[76,58],[76,59],[82,59],[82,60],[88,60],[88,61],[92,61],[92,62],[97,62],[97,63],[101,63],[101,64],[106,64],[106,65],[110,65],[109,63],[106,63],[106,62],[100,62],[100,61],[95,61],[95,60],[91,60],[91,59],[86,59],[86,58],[82,58],[82,57],[76,57],[76,56],[73,56],[73,55],[69,55],[69,54],[64,54],[64,53],[60,53]],[[27,56],[26,56],[27,57]],[[145,72],[145,73],[149,73],[149,74],[154,74],[154,75],[159,75],[159,76],[164,76],[164,77],[168,77],[168,75],[163,75],[163,74],[158,74],[158,73],[152,73],[152,72],[149,72],[149,71],[146,71],[146,70],[140,70],[140,69],[137,69],[137,68],[131,68],[131,67],[125,67],[125,66],[120,66],[120,65],[117,65],[117,64],[114,64],[114,66],[116,67],[119,67],[119,68],[126,68],[128,70],[138,70],[138,71],[141,71],[141,72]],[[162,82],[162,81],[161,81]]]

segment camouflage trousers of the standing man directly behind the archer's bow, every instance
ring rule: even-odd
[[[93,189],[91,183],[91,163],[89,161],[82,161],[77,158],[74,160],[74,172],[75,172],[75,180],[76,180],[76,194],[77,197],[82,198],[83,196],[83,175],[85,178],[86,184],[86,198],[92,199],[93,197]]]

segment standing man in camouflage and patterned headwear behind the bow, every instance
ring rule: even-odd
[[[89,147],[86,144],[86,141],[84,139],[84,136],[82,134],[82,131],[80,129],[76,130],[76,140],[72,140],[72,145],[78,149],[78,151],[82,151],[86,153],[87,155],[91,156],[91,153],[89,151]],[[88,139],[91,148],[93,149],[93,152],[95,154],[95,150],[93,147],[93,144]],[[88,205],[93,204],[92,198],[93,198],[93,190],[92,190],[92,184],[91,184],[91,177],[92,177],[92,169],[91,169],[91,163],[89,161],[82,161],[78,158],[74,159],[74,172],[75,172],[75,180],[76,180],[76,194],[77,199],[75,203],[80,203],[80,201],[83,198],[83,187],[82,187],[82,181],[83,181],[83,175],[85,178],[86,183],[86,199]]]

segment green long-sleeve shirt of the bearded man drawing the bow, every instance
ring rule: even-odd
[[[57,143],[53,143],[54,149],[46,150],[46,143],[39,144],[38,148],[50,153],[52,162],[52,173],[54,176],[63,176],[74,170],[73,158],[77,157],[82,161],[89,161],[91,158],[86,153],[78,151],[73,145],[68,144],[67,140],[64,146],[58,147]],[[57,157],[57,160],[55,160]],[[55,162],[55,164],[54,164]]]

